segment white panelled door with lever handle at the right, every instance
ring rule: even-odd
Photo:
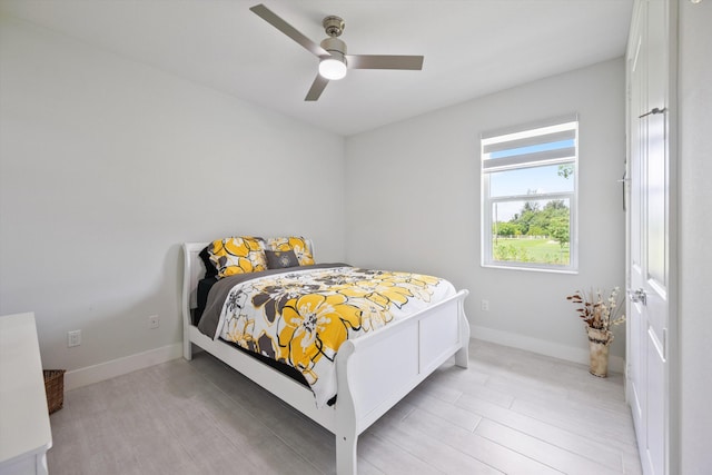
[[[668,474],[668,1],[641,1],[630,58],[629,402],[645,474]]]

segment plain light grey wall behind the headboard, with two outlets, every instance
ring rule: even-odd
[[[44,367],[179,343],[181,241],[294,232],[344,260],[342,137],[0,21],[0,315],[36,313]]]

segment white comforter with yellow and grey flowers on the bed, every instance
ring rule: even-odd
[[[287,270],[231,287],[211,336],[293,366],[318,407],[336,395],[335,357],[344,340],[455,294],[447,280],[419,274],[348,266]]]

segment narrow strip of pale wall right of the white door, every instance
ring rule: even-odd
[[[672,370],[680,384],[678,473],[702,475],[712,473],[712,2],[680,1],[679,12],[680,368]]]

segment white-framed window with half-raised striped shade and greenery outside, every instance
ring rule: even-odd
[[[575,271],[578,120],[482,136],[482,265]]]

